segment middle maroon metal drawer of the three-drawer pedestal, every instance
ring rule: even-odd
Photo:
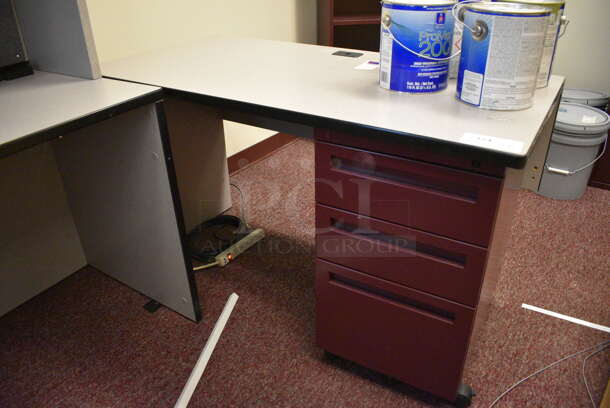
[[[487,250],[318,204],[316,254],[395,283],[476,306]]]

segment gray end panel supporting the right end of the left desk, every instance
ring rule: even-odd
[[[198,321],[158,107],[141,107],[73,132],[54,142],[55,154],[87,262]]]

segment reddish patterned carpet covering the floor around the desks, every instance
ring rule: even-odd
[[[313,144],[299,140],[233,177],[248,221],[267,232],[224,269],[198,272],[194,324],[93,268],[0,318],[0,407],[172,407],[230,293],[239,302],[192,407],[445,407],[314,343]],[[237,211],[239,197],[234,195]],[[610,325],[610,192],[561,202],[523,192],[510,250],[464,380],[488,407],[503,390],[600,331],[521,308],[529,303]],[[587,376],[599,404],[610,351]],[[582,356],[516,388],[498,407],[590,407]]]

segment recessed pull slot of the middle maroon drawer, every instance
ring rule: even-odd
[[[430,259],[435,262],[442,262],[446,265],[464,269],[466,266],[466,256],[446,251],[441,248],[418,243],[415,239],[404,236],[385,234],[370,228],[359,228],[358,226],[344,221],[331,218],[330,225],[339,232],[346,232],[358,236],[368,241],[382,242],[388,246],[400,248],[403,251],[412,253],[414,256]]]

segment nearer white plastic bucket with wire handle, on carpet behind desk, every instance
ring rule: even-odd
[[[606,150],[609,128],[610,118],[600,109],[560,104],[538,193],[558,200],[582,197],[593,164]]]

